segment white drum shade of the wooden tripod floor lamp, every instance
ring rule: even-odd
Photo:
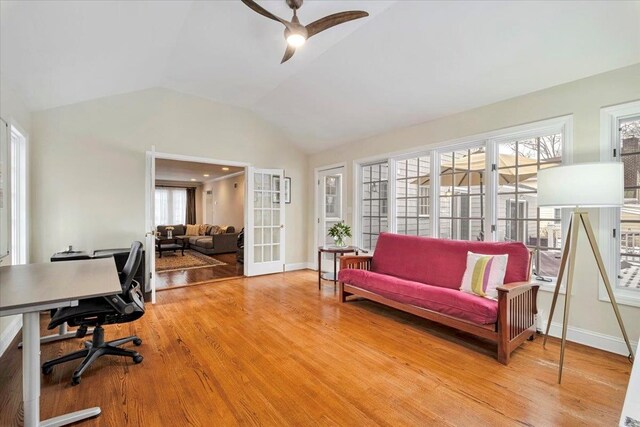
[[[624,204],[624,165],[579,163],[538,171],[538,206],[611,207]]]

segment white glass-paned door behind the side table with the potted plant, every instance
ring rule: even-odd
[[[343,207],[344,167],[318,172],[318,245],[333,245],[327,230],[344,221]],[[323,271],[333,271],[333,255],[323,253]]]

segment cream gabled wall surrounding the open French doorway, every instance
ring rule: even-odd
[[[286,206],[287,263],[306,261],[306,156],[253,113],[149,89],[32,115],[31,254],[127,246],[145,233],[145,151],[283,168],[300,185]],[[224,163],[224,162],[221,162]]]

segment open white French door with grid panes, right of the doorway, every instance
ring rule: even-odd
[[[284,171],[249,168],[245,265],[248,276],[284,271]]]

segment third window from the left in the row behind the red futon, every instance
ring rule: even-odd
[[[484,146],[440,155],[440,237],[484,240],[485,169]]]

